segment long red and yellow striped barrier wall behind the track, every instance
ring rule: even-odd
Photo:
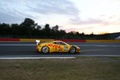
[[[25,39],[25,38],[0,38],[0,42],[49,42],[58,39]],[[64,42],[120,42],[120,40],[79,40],[79,39],[59,39]]]

